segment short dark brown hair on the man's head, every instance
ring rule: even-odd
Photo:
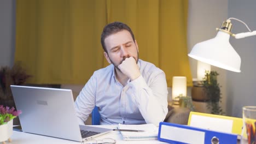
[[[127,26],[125,23],[113,22],[113,23],[109,23],[108,25],[106,25],[104,27],[104,29],[103,29],[103,31],[101,33],[101,45],[102,45],[102,48],[103,48],[103,50],[105,52],[107,52],[106,45],[105,45],[105,42],[104,42],[105,39],[109,35],[117,33],[117,32],[121,32],[123,30],[128,31],[131,34],[133,41],[135,41],[134,35],[133,35],[132,31],[131,31],[131,28],[129,26]]]

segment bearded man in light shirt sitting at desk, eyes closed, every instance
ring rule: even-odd
[[[101,124],[159,125],[168,111],[164,71],[138,58],[137,41],[124,23],[104,27],[101,44],[110,65],[95,71],[75,100],[79,123],[97,106]]]

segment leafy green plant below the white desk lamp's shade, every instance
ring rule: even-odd
[[[212,114],[215,115],[223,115],[224,112],[222,107],[219,106],[219,103],[222,102],[220,86],[217,81],[217,76],[219,74],[217,71],[205,71],[205,77],[201,82],[203,86],[203,91],[205,91],[207,96],[207,109],[211,111]]]

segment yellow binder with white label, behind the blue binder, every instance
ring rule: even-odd
[[[243,127],[243,119],[209,113],[190,112],[188,125],[191,127],[217,130],[240,135]]]

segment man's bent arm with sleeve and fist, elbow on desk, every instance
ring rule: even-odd
[[[126,58],[118,68],[130,78],[129,85],[135,89],[134,99],[145,121],[159,125],[168,112],[168,91],[164,71],[155,68],[156,71],[152,72],[148,86],[133,57]]]

